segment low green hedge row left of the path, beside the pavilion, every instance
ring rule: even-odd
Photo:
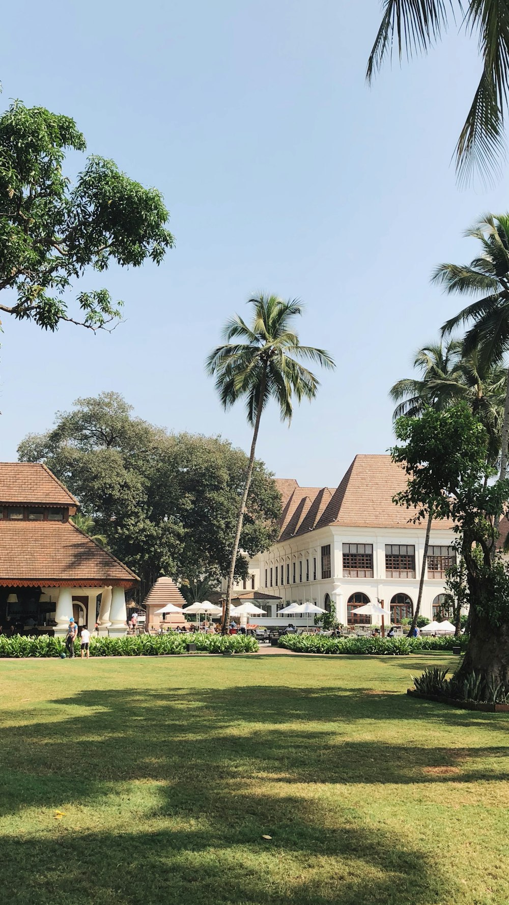
[[[186,643],[197,645],[197,651],[206,653],[255,653],[258,650],[258,642],[242,634],[227,634],[224,637],[219,634],[205,634],[196,632],[181,635],[177,633],[167,634],[141,634],[126,635],[120,638],[91,638],[91,657],[149,657],[161,656],[167,653],[186,653]],[[79,641],[74,644],[74,651],[80,654]],[[63,638],[51,638],[47,634],[38,637],[26,637],[14,634],[8,638],[0,635],[0,657],[59,657],[65,653]]]

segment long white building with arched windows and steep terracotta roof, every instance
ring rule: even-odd
[[[236,586],[280,598],[261,604],[267,617],[256,622],[279,622],[277,612],[291,603],[329,608],[333,601],[340,623],[366,624],[370,617],[352,610],[379,599],[399,623],[413,614],[423,568],[421,614],[432,619],[446,569],[456,559],[456,535],[450,522],[434,521],[424,562],[426,523],[413,524],[416,511],[392,501],[406,481],[389,455],[356,456],[337,488],[277,480],[283,498],[279,539],[251,561],[251,577]]]

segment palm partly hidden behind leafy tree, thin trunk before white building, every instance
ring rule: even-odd
[[[418,418],[428,407],[437,411],[447,408],[447,405],[450,405],[457,397],[456,386],[461,379],[460,362],[461,343],[457,340],[451,340],[445,348],[442,343],[434,343],[420,348],[414,359],[414,367],[421,373],[420,379],[404,377],[389,390],[392,401],[398,403],[392,414],[392,420],[397,421],[402,415]],[[433,509],[430,508],[427,514],[423,565],[418,583],[418,600],[408,637],[411,636],[418,624],[432,522]]]

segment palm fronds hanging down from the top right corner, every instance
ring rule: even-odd
[[[467,182],[477,171],[487,181],[504,157],[504,116],[509,89],[509,4],[507,0],[383,0],[384,14],[370,53],[370,83],[397,38],[399,59],[427,52],[447,25],[458,21],[475,36],[483,71],[456,144],[456,173]]]

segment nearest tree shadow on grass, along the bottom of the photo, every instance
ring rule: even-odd
[[[187,796],[185,812],[168,801],[150,828],[59,824],[57,838],[4,837],[2,856],[5,900],[31,905],[432,905],[454,887],[425,854],[349,809],[332,819],[320,802],[220,786]]]

